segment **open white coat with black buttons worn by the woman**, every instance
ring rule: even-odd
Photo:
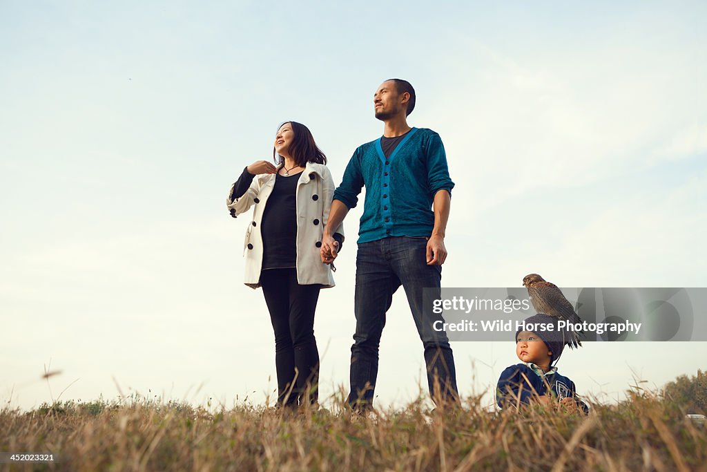
[[[280,166],[278,166],[278,169]],[[245,257],[245,284],[256,289],[260,287],[260,271],[263,260],[263,241],[260,234],[265,205],[275,185],[275,174],[255,175],[250,188],[242,197],[231,200],[231,185],[226,205],[235,210],[235,215],[243,214],[253,206],[253,217],[248,222],[243,242]],[[296,188],[297,208],[297,282],[301,285],[322,284],[322,288],[334,287],[332,269],[322,263],[320,247],[322,235],[329,221],[329,209],[334,196],[334,179],[324,164],[307,163],[300,174]],[[233,212],[232,212],[233,214]],[[344,225],[334,231],[344,235]]]

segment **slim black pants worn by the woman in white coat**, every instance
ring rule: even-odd
[[[277,403],[316,403],[319,351],[314,337],[314,313],[321,287],[298,284],[294,268],[263,270],[260,284],[275,331]]]

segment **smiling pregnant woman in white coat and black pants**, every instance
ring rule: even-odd
[[[243,169],[228,193],[232,217],[253,209],[245,234],[245,284],[262,287],[275,331],[279,406],[317,403],[319,351],[314,316],[321,288],[334,287],[322,263],[322,233],[334,180],[312,133],[285,122],[275,136],[274,161]],[[344,242],[343,226],[334,238]]]

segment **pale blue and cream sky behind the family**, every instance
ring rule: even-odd
[[[382,134],[390,77],[415,86],[409,124],[440,134],[456,183],[443,286],[707,287],[704,2],[149,3],[0,0],[3,403],[272,400],[249,220],[226,193],[285,120],[339,183]],[[317,308],[322,397],[349,386],[360,215]],[[462,396],[518,362],[511,340],[452,348]],[[585,343],[559,368],[612,401],[706,355]],[[379,406],[426,384],[402,289],[380,359]]]

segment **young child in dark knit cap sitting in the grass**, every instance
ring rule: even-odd
[[[525,325],[553,326],[554,330],[521,330],[515,333],[515,355],[523,364],[512,365],[501,373],[496,386],[496,403],[501,408],[529,404],[559,404],[568,411],[588,406],[577,398],[575,384],[551,367],[565,347],[568,333],[557,328],[557,319],[543,313],[530,316]]]

